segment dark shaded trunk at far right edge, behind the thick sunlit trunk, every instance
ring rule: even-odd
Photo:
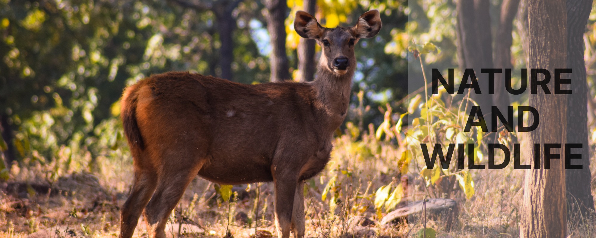
[[[566,170],[567,209],[569,221],[581,221],[589,210],[594,210],[590,181],[588,144],[588,84],[583,61],[583,33],[592,7],[592,0],[567,0],[567,68],[572,68],[572,94],[567,102],[567,143],[581,143],[581,149],[573,154],[581,154],[582,159],[574,159],[573,164],[581,164],[581,170]],[[579,213],[581,212],[581,214]]]

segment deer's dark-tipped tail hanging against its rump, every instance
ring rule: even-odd
[[[122,95],[122,101],[120,101],[120,117],[122,118],[124,133],[133,152],[142,151],[145,147],[139,124],[136,121],[136,103],[138,99],[136,91],[138,88],[139,84],[126,88]]]

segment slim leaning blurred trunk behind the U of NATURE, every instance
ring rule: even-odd
[[[520,0],[504,0],[501,5],[499,26],[495,35],[495,68],[513,68],[511,65],[511,43],[513,37],[513,19],[516,16]],[[505,90],[505,78],[495,77],[495,94],[492,101],[501,111],[509,106],[509,94]]]

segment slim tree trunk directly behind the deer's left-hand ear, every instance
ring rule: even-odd
[[[315,15],[316,0],[304,0],[304,11]],[[315,40],[300,37],[298,44],[298,72],[300,82],[311,82],[315,78]]]

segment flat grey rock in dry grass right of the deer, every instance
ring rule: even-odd
[[[401,221],[414,221],[422,218],[424,211],[423,201],[411,202],[408,205],[389,212],[381,220],[381,225],[389,223],[399,223]],[[445,228],[449,230],[455,218],[457,218],[458,208],[457,202],[453,199],[431,198],[426,202],[427,218],[433,220],[441,220],[445,222]]]

